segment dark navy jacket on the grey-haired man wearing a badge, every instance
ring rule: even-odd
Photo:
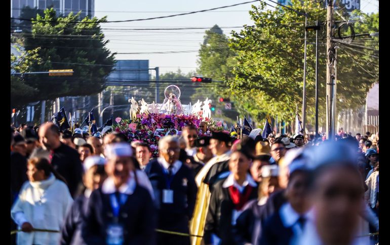
[[[198,187],[192,170],[182,164],[173,176],[170,189],[173,203],[163,203],[163,189],[168,189],[163,167],[157,160],[145,168],[154,192],[154,205],[158,209],[159,229],[188,233],[188,222],[192,218]],[[189,237],[158,233],[159,244],[188,244]]]

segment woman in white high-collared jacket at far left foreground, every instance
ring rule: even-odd
[[[29,181],[23,184],[11,209],[11,217],[22,230],[17,234],[17,244],[58,244],[60,233],[33,229],[61,230],[73,202],[65,180],[45,158],[30,159],[27,176]]]

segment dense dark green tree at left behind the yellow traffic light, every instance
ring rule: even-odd
[[[85,96],[102,91],[114,65],[114,54],[106,48],[108,40],[103,40],[100,28],[100,23],[105,22],[106,17],[86,17],[77,21],[80,13],[56,17],[53,9],[46,9],[44,14],[37,15],[36,20],[32,21],[32,33],[24,34],[25,50],[28,52],[40,47],[36,54],[42,61],[32,61],[27,70],[73,69],[74,73],[72,76],[23,76],[23,82],[37,91],[33,98],[26,98],[27,102],[53,100],[61,96]],[[22,69],[15,66],[14,70]]]

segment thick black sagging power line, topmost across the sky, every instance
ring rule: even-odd
[[[206,9],[206,10],[192,11],[192,12],[176,14],[176,15],[151,17],[151,18],[144,18],[144,19],[133,19],[133,20],[104,21],[104,23],[120,23],[120,22],[133,22],[133,21],[143,21],[143,20],[164,19],[164,18],[170,18],[170,17],[176,17],[176,16],[183,16],[183,15],[202,13],[202,12],[207,12],[207,11],[211,11],[211,10],[224,9],[224,8],[239,6],[239,5],[243,5],[243,4],[250,4],[250,3],[254,3],[254,2],[258,2],[258,1],[259,0],[255,0],[255,1],[244,2],[244,3],[240,3],[240,4],[227,5],[227,6],[222,6],[222,7],[212,8],[212,9]],[[31,21],[29,19],[23,19],[23,18],[13,18],[13,17],[11,17],[11,19],[13,19],[13,20]],[[35,21],[37,21],[37,22],[50,22],[50,23],[75,23],[75,24],[77,24],[77,23],[102,23],[101,21],[83,21],[83,22],[81,22],[81,21],[53,21],[53,20],[35,20]]]

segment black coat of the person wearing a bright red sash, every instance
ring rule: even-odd
[[[220,180],[214,184],[214,189],[211,192],[209,210],[206,216],[206,224],[204,231],[205,244],[211,243],[211,234],[216,234],[221,238],[221,244],[236,244],[233,235],[233,226],[231,217],[235,205],[231,200],[228,188],[222,187],[225,180]],[[252,188],[249,195],[250,200],[257,200],[257,188]]]

